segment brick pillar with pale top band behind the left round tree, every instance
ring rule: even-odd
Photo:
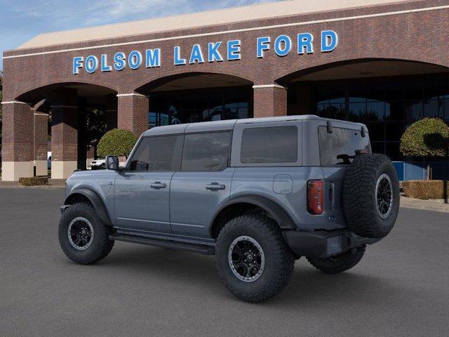
[[[139,137],[148,130],[149,99],[139,93],[119,94],[117,98],[118,127],[133,131],[135,136]]]

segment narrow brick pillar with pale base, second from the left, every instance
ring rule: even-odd
[[[48,114],[34,110],[34,166],[36,176],[46,176],[47,169]]]

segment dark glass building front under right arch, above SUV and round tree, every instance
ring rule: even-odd
[[[337,84],[311,85],[316,114],[364,123],[373,152],[403,160],[399,141],[407,126],[423,117],[449,122],[448,75],[356,79]],[[334,82],[335,83],[335,82]]]

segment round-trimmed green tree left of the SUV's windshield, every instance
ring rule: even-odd
[[[102,136],[100,139],[98,155],[106,157],[108,154],[112,154],[117,157],[128,158],[137,141],[138,138],[131,131],[114,128],[105,133],[105,136]]]

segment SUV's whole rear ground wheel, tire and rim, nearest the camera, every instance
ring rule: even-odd
[[[229,220],[218,235],[215,253],[222,282],[247,302],[275,296],[293,275],[295,256],[274,220],[261,214]]]

